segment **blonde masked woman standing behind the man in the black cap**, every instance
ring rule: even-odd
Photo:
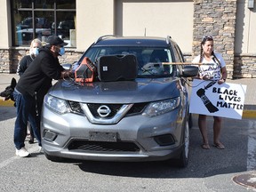
[[[19,62],[17,68],[17,75],[22,76],[25,70],[28,68],[29,64],[36,58],[36,55],[39,54],[39,48],[42,47],[42,42],[39,39],[34,39],[30,44],[29,55],[25,55]],[[38,105],[37,105],[38,106]],[[36,112],[36,108],[35,108]],[[40,130],[40,118],[38,113],[36,113],[36,124],[37,128]],[[29,116],[28,116],[28,131],[30,133],[30,139],[28,140],[29,144],[34,143],[34,132],[31,124],[29,123]]]

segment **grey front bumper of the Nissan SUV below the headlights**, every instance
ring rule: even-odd
[[[183,122],[176,108],[162,116],[127,116],[118,124],[91,124],[86,116],[58,115],[44,107],[41,134],[44,153],[79,160],[158,161],[180,156]],[[92,139],[92,133],[110,133]],[[101,134],[102,136],[102,134]]]

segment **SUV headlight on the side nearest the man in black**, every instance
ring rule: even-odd
[[[48,108],[51,108],[53,111],[59,114],[68,113],[68,104],[66,100],[61,100],[52,95],[46,94],[44,97],[44,103]]]

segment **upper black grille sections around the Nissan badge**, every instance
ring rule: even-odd
[[[84,114],[83,109],[81,108],[81,105],[79,102],[76,101],[68,101],[68,104],[70,106],[70,109],[73,113],[77,113],[77,114]],[[94,104],[94,103],[90,103],[87,104],[88,108],[90,109],[92,116],[94,117],[100,117],[99,114],[97,113],[97,109],[100,108],[101,105],[107,105],[108,108],[111,109],[111,113],[108,115],[108,118],[111,118],[113,116],[116,115],[116,113],[118,112],[118,110],[120,108],[122,108],[122,104]],[[146,108],[146,106],[148,105],[148,103],[144,102],[144,103],[134,103],[132,108],[130,108],[130,110],[127,112],[126,116],[134,116],[134,115],[138,115],[141,114],[142,111],[144,110],[144,108]]]

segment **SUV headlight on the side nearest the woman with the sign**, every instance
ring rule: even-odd
[[[180,105],[180,97],[170,100],[161,100],[150,103],[148,108],[145,109],[143,116],[160,116],[164,113],[172,111]]]

